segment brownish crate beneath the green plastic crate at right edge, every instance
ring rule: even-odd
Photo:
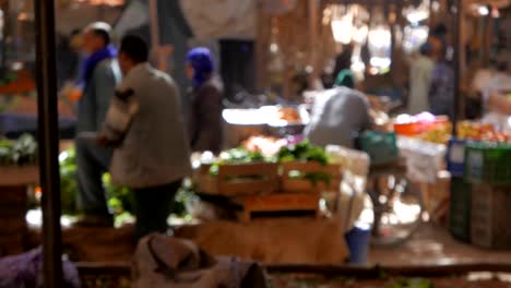
[[[472,190],[472,243],[488,249],[511,249],[509,229],[511,185],[474,184]]]

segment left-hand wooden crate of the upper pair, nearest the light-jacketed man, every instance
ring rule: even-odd
[[[271,193],[278,188],[277,164],[226,164],[218,167],[217,177],[209,172],[210,166],[203,166],[195,178],[199,191],[206,194],[241,196]]]

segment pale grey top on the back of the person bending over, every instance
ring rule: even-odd
[[[358,132],[370,129],[366,96],[346,87],[335,87],[317,96],[306,137],[314,145],[353,147]]]

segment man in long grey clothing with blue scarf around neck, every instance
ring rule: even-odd
[[[110,44],[110,26],[93,23],[83,33],[83,46],[88,55],[82,72],[83,96],[79,100],[78,132],[100,131],[110,98],[121,73],[116,60],[117,50]],[[111,153],[86,140],[76,140],[79,204],[84,218],[82,226],[111,226],[103,175],[107,171]]]

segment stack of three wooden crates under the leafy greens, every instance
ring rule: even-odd
[[[309,212],[319,215],[321,192],[337,191],[342,180],[341,166],[314,161],[221,165],[217,177],[210,176],[209,171],[210,166],[205,165],[195,173],[198,190],[227,197],[242,207],[238,213],[242,221],[250,221],[255,214]],[[293,172],[328,175],[330,181],[294,178]]]

